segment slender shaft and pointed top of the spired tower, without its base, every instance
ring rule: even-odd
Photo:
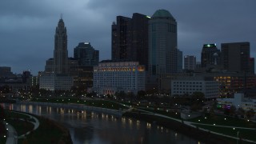
[[[58,21],[54,37],[54,73],[68,74],[67,36],[62,18]]]

